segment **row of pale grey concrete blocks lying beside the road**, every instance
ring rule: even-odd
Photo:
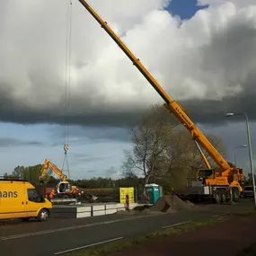
[[[137,207],[137,203],[132,203],[129,208]],[[81,218],[89,216],[104,216],[115,214],[118,211],[125,210],[125,204],[106,203],[106,204],[81,204],[67,206],[53,206],[50,211],[51,217],[60,218]]]

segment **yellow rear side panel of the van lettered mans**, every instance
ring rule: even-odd
[[[25,183],[1,181],[0,202],[0,219],[25,217]]]

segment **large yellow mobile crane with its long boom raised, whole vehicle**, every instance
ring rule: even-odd
[[[172,97],[166,93],[163,87],[156,81],[145,66],[140,62],[128,47],[120,40],[119,36],[111,30],[107,22],[102,20],[102,17],[93,10],[90,4],[85,0],[78,0],[83,4],[84,8],[92,14],[93,18],[100,23],[102,29],[106,31],[112,40],[114,40],[120,49],[132,61],[133,65],[137,67],[139,72],[145,76],[146,80],[154,87],[154,90],[159,93],[163,98],[164,106],[171,111],[171,113],[181,121],[182,125],[187,128],[191,137],[202,146],[217,164],[218,168],[211,169],[207,164],[206,159],[203,157],[204,162],[207,164],[207,169],[201,169],[198,172],[197,181],[193,181],[192,186],[189,187],[188,192],[192,195],[211,197],[217,203],[225,202],[226,200],[236,200],[240,197],[240,192],[243,188],[240,182],[243,181],[243,169],[232,166],[227,163],[224,157],[219,154],[216,148],[210,143],[205,135],[199,128],[192,122],[189,116],[185,113],[181,105],[176,102]],[[203,156],[203,154],[201,154]]]

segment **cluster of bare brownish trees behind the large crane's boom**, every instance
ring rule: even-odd
[[[139,172],[146,184],[165,183],[169,189],[181,189],[200,168],[207,168],[190,132],[180,123],[172,125],[172,117],[169,110],[156,105],[146,111],[137,127],[130,128],[133,148],[125,151],[125,176]],[[213,135],[207,137],[225,156],[221,138]],[[216,167],[206,151],[202,150],[211,166]]]

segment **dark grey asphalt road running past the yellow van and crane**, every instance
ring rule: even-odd
[[[204,205],[200,210],[178,214],[110,215],[83,219],[49,219],[46,223],[29,222],[0,224],[1,255],[61,255],[61,252],[101,243],[111,239],[131,237],[179,225],[191,220],[204,219],[225,212],[238,212],[252,208],[252,201],[237,205]]]

